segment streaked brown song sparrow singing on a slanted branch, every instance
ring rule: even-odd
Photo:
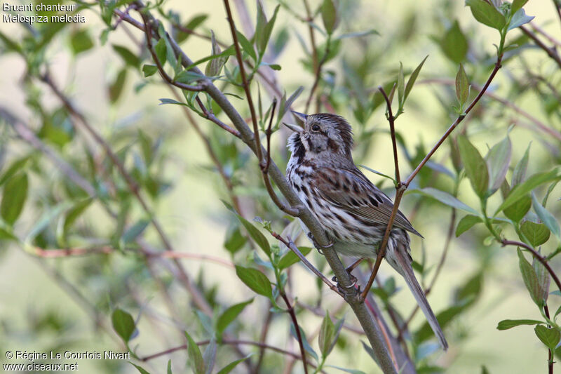
[[[286,169],[290,184],[323,225],[327,236],[342,242],[337,251],[375,258],[393,203],[356,168],[351,155],[351,126],[335,114],[293,113],[304,121],[304,128],[285,123],[295,131],[288,139],[292,152]],[[442,348],[447,349],[444,333],[415,279],[407,232],[421,236],[398,212],[385,258],[405,278]]]

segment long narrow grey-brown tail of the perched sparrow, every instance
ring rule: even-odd
[[[446,338],[444,337],[444,333],[442,333],[442,328],[438,324],[438,321],[433,313],[433,309],[431,309],[431,305],[428,305],[428,301],[426,300],[425,293],[417,278],[415,278],[415,274],[413,273],[413,268],[411,267],[411,261],[408,256],[407,250],[403,251],[403,248],[395,248],[395,251],[392,251],[393,260],[396,261],[399,265],[398,272],[403,275],[405,278],[405,282],[407,286],[409,286],[415,300],[419,304],[419,307],[423,311],[428,324],[434,331],[434,334],[440,341],[440,345],[442,345],[442,349],[448,349],[448,343],[446,342]]]

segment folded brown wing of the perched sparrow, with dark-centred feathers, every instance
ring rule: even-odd
[[[374,186],[357,168],[354,170],[320,168],[314,175],[313,188],[327,201],[363,220],[387,225],[393,210],[391,199]],[[423,237],[405,215],[398,211],[393,227],[405,229]]]

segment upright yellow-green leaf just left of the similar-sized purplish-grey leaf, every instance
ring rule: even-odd
[[[487,172],[485,160],[465,135],[458,136],[458,147],[460,149],[461,161],[464,162],[466,175],[471,182],[471,187],[483,199],[489,185],[489,173]]]

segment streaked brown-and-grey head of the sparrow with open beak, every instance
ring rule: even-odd
[[[306,158],[316,158],[320,154],[352,159],[353,132],[351,125],[337,114],[302,114],[292,111],[304,126],[284,123],[294,131],[288,139],[288,147],[293,154]]]

